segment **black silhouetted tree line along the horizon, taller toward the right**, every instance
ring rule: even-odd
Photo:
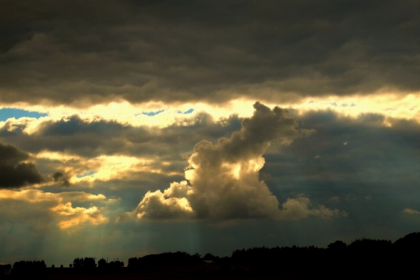
[[[97,263],[94,258],[76,258],[72,269],[50,269],[60,273],[105,274],[118,273],[155,273],[170,267],[195,269],[207,276],[249,276],[275,278],[314,278],[346,279],[377,278],[379,276],[408,277],[417,273],[420,260],[420,232],[413,232],[395,242],[379,239],[356,239],[350,244],[335,241],[327,248],[316,246],[257,247],[235,250],[230,257],[220,258],[207,253],[202,257],[186,252],[160,253],[134,257],[124,262],[107,262],[103,258]],[[209,264],[209,262],[211,262]],[[36,269],[45,269],[43,260],[34,262],[15,262],[13,274],[29,273]],[[166,267],[166,268],[165,268]],[[200,270],[201,269],[201,270]],[[52,272],[51,272],[52,273]]]

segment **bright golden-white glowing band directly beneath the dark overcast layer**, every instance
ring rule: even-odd
[[[255,101],[252,99],[235,99],[223,106],[207,103],[186,103],[186,104],[165,104],[162,102],[130,104],[128,102],[111,102],[109,104],[100,104],[90,106],[87,109],[77,109],[73,107],[57,106],[33,106],[30,104],[15,104],[16,108],[27,109],[30,111],[46,111],[48,116],[42,118],[22,118],[13,122],[29,122],[30,125],[25,132],[32,134],[36,132],[37,127],[45,120],[60,120],[73,115],[78,115],[86,120],[116,120],[118,123],[130,124],[133,126],[148,125],[151,127],[167,127],[174,123],[194,119],[197,113],[206,112],[216,120],[225,118],[232,113],[236,113],[239,118],[252,116],[251,105]],[[392,92],[377,92],[370,95],[351,96],[327,96],[327,97],[304,97],[299,101],[293,102],[265,102],[267,106],[280,106],[282,108],[293,108],[300,113],[309,110],[330,109],[346,116],[356,118],[360,113],[381,113],[391,118],[415,119],[420,122],[420,94],[394,94]],[[188,111],[194,109],[192,113],[180,114],[179,111]],[[163,111],[162,111],[163,110]],[[162,111],[155,116],[141,114],[144,111]],[[5,125],[6,121],[0,122],[0,127]]]

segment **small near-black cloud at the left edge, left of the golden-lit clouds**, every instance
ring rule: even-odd
[[[0,188],[19,188],[43,181],[33,163],[22,162],[28,158],[24,151],[0,143]]]

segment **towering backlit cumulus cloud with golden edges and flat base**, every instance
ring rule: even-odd
[[[217,144],[203,140],[195,145],[185,172],[190,184],[174,182],[163,193],[160,190],[146,193],[131,215],[137,218],[300,219],[342,214],[322,205],[311,209],[311,202],[303,195],[288,199],[279,209],[279,201],[259,179],[265,162],[262,154],[272,141],[288,145],[311,131],[299,130],[295,119],[284,109],[271,110],[259,102],[254,108],[253,116],[245,118],[241,130],[232,133],[229,139],[218,139]]]

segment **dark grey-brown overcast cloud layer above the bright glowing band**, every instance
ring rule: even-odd
[[[304,96],[416,91],[419,8],[417,1],[1,1],[0,98],[84,106],[258,98],[261,85]]]

